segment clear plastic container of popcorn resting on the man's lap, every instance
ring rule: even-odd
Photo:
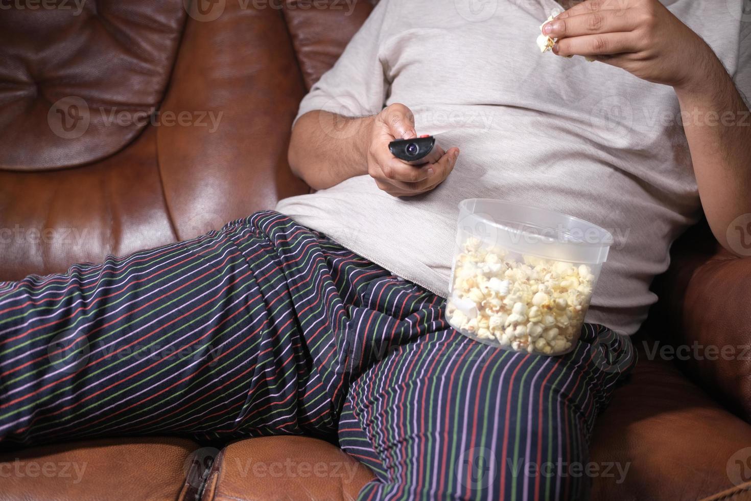
[[[562,355],[578,341],[613,237],[551,210],[470,198],[459,204],[446,318],[491,346]]]

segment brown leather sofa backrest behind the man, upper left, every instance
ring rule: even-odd
[[[195,237],[306,192],[286,159],[292,119],[372,10],[17,3],[0,11],[0,280]]]

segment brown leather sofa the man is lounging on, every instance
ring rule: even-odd
[[[286,163],[291,121],[369,2],[79,5],[0,2],[0,280],[193,237],[306,192]],[[593,499],[751,499],[751,258],[701,225],[672,254],[632,381],[596,426]],[[371,478],[299,436],[0,457],[0,499],[352,499]]]

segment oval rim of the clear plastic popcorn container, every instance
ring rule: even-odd
[[[481,216],[478,213],[475,213],[474,207],[470,207],[470,204],[477,204],[478,202],[490,203],[490,204],[494,204],[494,205],[513,206],[513,207],[516,207],[518,209],[532,210],[532,211],[535,211],[535,212],[538,212],[538,213],[547,213],[550,216],[555,216],[557,218],[560,218],[560,217],[569,218],[569,219],[571,219],[573,221],[581,223],[581,225],[588,226],[591,229],[593,229],[594,231],[599,232],[600,237],[602,237],[597,242],[587,242],[586,240],[575,240],[575,238],[572,237],[570,234],[563,234],[561,231],[559,231],[559,229],[551,228],[551,227],[549,227],[547,225],[540,225],[538,223],[533,223],[533,222],[529,222],[529,221],[520,221],[520,220],[517,220],[517,219],[506,219],[505,220],[507,222],[518,222],[518,223],[523,224],[523,225],[537,226],[538,228],[543,228],[544,230],[549,230],[551,233],[556,234],[556,236],[559,237],[559,241],[565,242],[567,246],[577,246],[577,247],[585,247],[585,248],[610,248],[614,244],[613,234],[611,234],[611,232],[608,231],[608,230],[606,230],[605,228],[602,228],[599,225],[594,224],[593,222],[589,222],[586,219],[581,219],[581,218],[576,217],[576,216],[570,216],[569,214],[566,214],[566,213],[559,213],[559,212],[557,212],[555,210],[544,209],[542,207],[535,207],[533,205],[528,205],[528,204],[517,204],[516,202],[505,201],[505,200],[501,200],[501,199],[498,199],[498,198],[465,198],[463,201],[459,202],[459,208],[460,208],[460,210],[461,209],[467,210],[471,214],[471,216],[474,216],[477,219],[481,219],[483,222],[485,222],[485,223],[487,223],[489,225],[492,225],[493,227],[501,228],[504,231],[510,231],[510,232],[512,232],[514,234],[519,234],[519,235],[521,235],[521,234],[528,234],[529,235],[530,234],[529,231],[524,231],[524,230],[519,229],[519,228],[513,228],[511,226],[504,225],[504,224],[502,224],[500,222],[496,222],[496,221],[487,219],[486,217]],[[535,235],[535,236],[539,237],[541,239],[544,239],[544,238],[549,239],[550,238],[550,237],[545,237],[543,235]]]

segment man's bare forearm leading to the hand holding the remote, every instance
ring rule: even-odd
[[[367,147],[374,117],[349,118],[327,111],[300,116],[292,129],[289,163],[313,189],[330,188],[367,174]]]

